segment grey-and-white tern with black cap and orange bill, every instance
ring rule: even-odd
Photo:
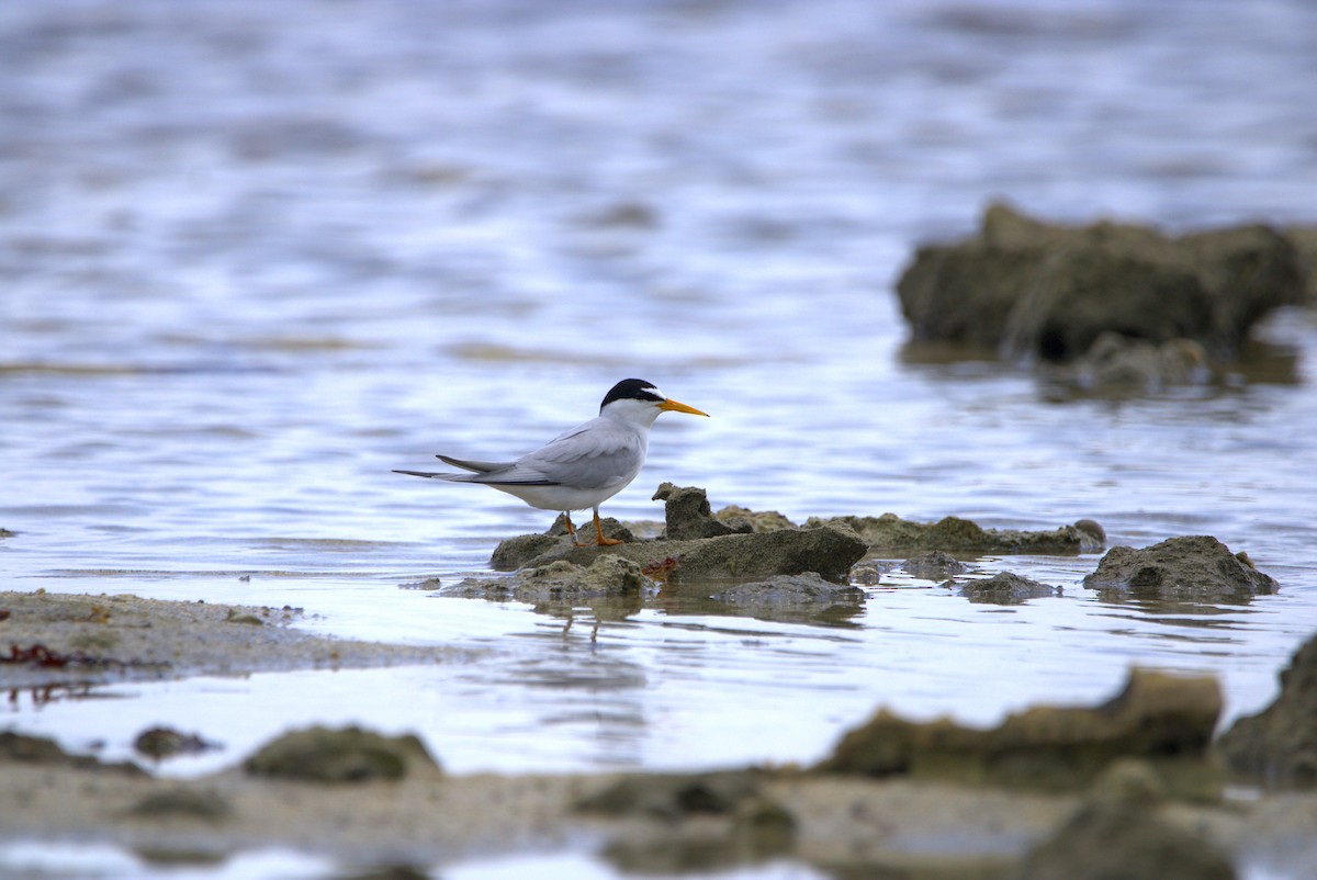
[[[395,470],[414,477],[432,477],[449,482],[475,482],[516,495],[531,507],[561,511],[568,534],[577,547],[590,547],[577,540],[572,511],[594,510],[594,532],[598,545],[620,544],[603,536],[599,505],[626,489],[645,462],[649,428],[660,412],[703,415],[695,407],[673,400],[651,382],[623,379],[603,395],[599,416],[558,435],[547,445],[516,461],[468,461],[435,456],[440,461],[471,473],[431,473]]]

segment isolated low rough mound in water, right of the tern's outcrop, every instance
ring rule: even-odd
[[[1084,586],[1106,601],[1235,605],[1280,589],[1246,556],[1209,535],[1169,537],[1142,549],[1113,547]]]

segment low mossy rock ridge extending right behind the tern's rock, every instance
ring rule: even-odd
[[[1081,520],[1092,523],[1092,520]],[[984,528],[979,523],[959,516],[944,516],[935,523],[917,523],[896,514],[881,516],[811,518],[806,526],[846,524],[863,537],[876,553],[922,553],[944,551],[948,553],[1036,553],[1046,556],[1096,553],[1102,549],[1102,539],[1092,527],[1062,526],[1050,531],[1019,531],[1013,528]],[[1096,526],[1096,523],[1093,523]]]

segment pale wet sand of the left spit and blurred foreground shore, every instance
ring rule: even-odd
[[[294,609],[0,593],[0,611],[8,613],[0,619],[0,653],[26,656],[21,652],[41,646],[55,660],[0,664],[0,684],[11,690],[452,656],[307,634],[288,626],[300,617]],[[936,868],[939,877],[1006,877],[1017,876],[1029,848],[1089,800],[1087,792],[1022,793],[795,769],[449,776],[427,761],[411,761],[394,781],[271,780],[240,765],[180,781],[34,755],[24,751],[29,738],[16,736],[21,732],[11,730],[13,748],[0,750],[0,840],[97,842],[196,859],[290,847],[361,868],[425,868],[572,850],[602,852],[619,869],[658,873],[790,856],[824,869],[918,867]],[[1317,794],[1222,804],[1146,800],[1141,809],[1148,815],[1209,839],[1237,864],[1291,876],[1287,866],[1314,855]],[[597,809],[587,809],[591,804]]]

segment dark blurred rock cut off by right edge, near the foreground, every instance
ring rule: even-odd
[[[1280,673],[1280,696],[1217,743],[1231,772],[1277,789],[1317,788],[1317,636]]]

